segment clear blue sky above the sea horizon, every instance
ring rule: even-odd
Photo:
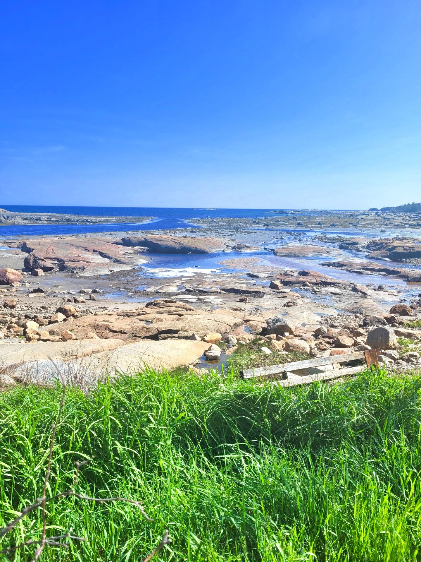
[[[419,0],[0,7],[0,203],[421,200]]]

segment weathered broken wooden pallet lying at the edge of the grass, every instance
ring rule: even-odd
[[[350,362],[361,362],[360,365],[344,367],[342,364]],[[378,350],[356,351],[344,355],[333,355],[330,357],[317,357],[305,361],[294,361],[280,365],[270,365],[257,369],[244,369],[240,376],[244,379],[261,379],[273,377],[273,384],[281,386],[296,386],[298,384],[310,384],[315,380],[327,381],[340,377],[360,373],[370,365],[378,365]]]

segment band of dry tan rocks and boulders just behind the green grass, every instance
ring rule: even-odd
[[[49,318],[16,316],[18,304],[10,301],[3,303],[0,320],[6,332],[2,328],[0,334],[20,340],[0,345],[3,384],[60,378],[86,387],[117,372],[193,366],[203,355],[218,362],[221,342],[231,353],[254,339],[264,353],[320,357],[378,348],[382,362],[417,362],[415,350],[399,359],[397,337],[421,341],[420,330],[405,327],[416,316],[419,302],[395,305],[383,314],[342,315],[346,322],[325,316],[324,324],[310,328],[292,321],[294,314],[286,318],[288,313],[269,311],[250,315],[223,308],[197,310],[175,299],[149,301],[118,314],[81,314],[76,306],[63,304]]]

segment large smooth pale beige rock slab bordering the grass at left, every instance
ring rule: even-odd
[[[62,383],[86,388],[116,374],[134,374],[145,368],[171,370],[193,364],[209,343],[166,339],[124,345],[121,340],[72,341],[0,346],[2,383]]]

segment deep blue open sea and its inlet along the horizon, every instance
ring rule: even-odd
[[[194,219],[247,218],[267,219],[276,216],[271,209],[174,209],[163,207],[68,207],[44,205],[0,205],[0,209],[10,212],[25,213],[63,213],[81,216],[132,216],[155,217],[148,223],[108,223],[103,224],[27,224],[24,226],[4,225],[0,228],[0,236],[34,236],[34,235],[65,235],[86,234],[95,232],[125,232],[126,230],[155,230],[170,228],[193,228]],[[289,214],[280,210],[280,216]],[[304,211],[305,215],[328,213],[329,211]],[[190,222],[191,221],[191,222]],[[35,222],[35,221],[34,221]]]

